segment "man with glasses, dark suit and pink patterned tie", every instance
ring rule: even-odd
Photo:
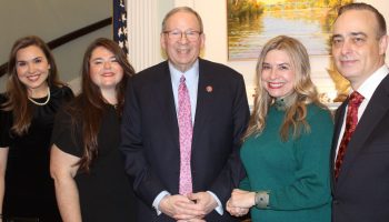
[[[199,59],[203,44],[199,14],[176,8],[162,22],[168,61],[129,81],[120,149],[141,199],[139,221],[237,221],[223,209],[243,174],[239,148],[249,119],[245,82],[232,69]],[[187,124],[182,117],[189,117]],[[188,141],[186,164],[181,149]]]

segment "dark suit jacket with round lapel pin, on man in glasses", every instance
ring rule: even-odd
[[[206,90],[211,87],[212,91]],[[240,139],[249,119],[241,74],[226,65],[199,59],[191,173],[193,192],[211,191],[226,203],[243,170]],[[146,69],[129,81],[122,118],[121,150],[126,170],[134,176],[142,200],[139,221],[172,221],[157,216],[152,202],[163,190],[179,189],[179,131],[168,62]],[[207,221],[235,221],[212,211]]]

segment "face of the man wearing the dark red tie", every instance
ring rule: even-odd
[[[355,90],[385,63],[387,36],[368,10],[345,11],[333,24],[332,56],[339,72]]]

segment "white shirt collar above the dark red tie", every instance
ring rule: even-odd
[[[381,68],[376,70],[368,79],[366,79],[366,81],[359,87],[357,91],[361,95],[363,95],[367,101],[369,101],[379,83],[381,83],[381,81],[388,73],[389,69],[386,64],[383,64]]]

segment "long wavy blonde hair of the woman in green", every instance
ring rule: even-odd
[[[292,130],[292,137],[300,135],[301,130],[308,132],[309,124],[306,121],[307,104],[317,103],[325,108],[318,100],[318,92],[310,79],[309,57],[306,48],[298,40],[279,36],[268,41],[258,58],[257,62],[257,92],[255,97],[255,108],[249,121],[249,127],[243,135],[243,140],[250,135],[259,135],[266,127],[266,117],[269,107],[275,102],[263,88],[261,82],[261,71],[266,56],[272,50],[282,50],[290,57],[292,69],[295,70],[293,92],[285,98],[286,114],[283,123],[280,128],[280,137],[282,141],[289,139],[289,132]]]

